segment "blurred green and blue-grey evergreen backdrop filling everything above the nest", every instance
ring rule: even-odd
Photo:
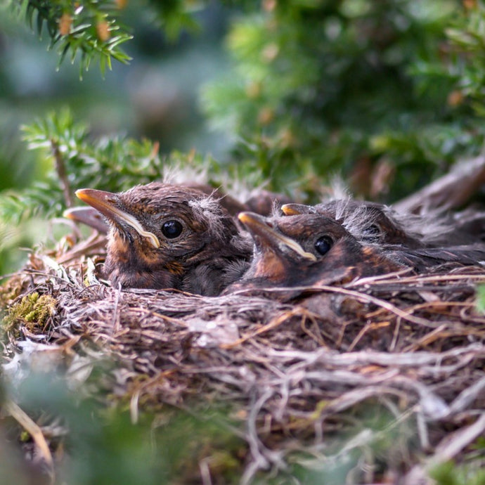
[[[72,190],[200,162],[213,183],[309,202],[335,174],[356,196],[408,195],[481,153],[484,24],[474,0],[4,2],[0,274],[19,247],[58,239],[46,238],[66,205],[52,143]],[[137,168],[143,157],[156,167]]]

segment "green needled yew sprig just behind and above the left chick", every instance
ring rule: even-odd
[[[79,205],[75,190],[85,187],[119,192],[138,183],[163,180],[171,172],[202,176],[220,183],[219,164],[195,152],[172,152],[160,157],[153,141],[128,137],[89,138],[84,124],[75,122],[69,110],[51,113],[22,131],[31,150],[48,163],[42,181],[34,181],[21,192],[0,193],[0,219],[20,224],[32,216],[58,216],[67,207]],[[174,174],[176,176],[176,174]],[[204,175],[206,176],[206,175]]]

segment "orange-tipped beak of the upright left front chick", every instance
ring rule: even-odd
[[[86,204],[91,205],[98,212],[101,212],[103,216],[108,217],[110,221],[128,224],[138,234],[143,236],[143,238],[147,238],[153,247],[160,247],[160,241],[155,234],[150,233],[150,231],[145,231],[136,217],[119,209],[119,196],[117,194],[93,188],[80,188],[76,190],[76,195],[83,202],[86,202]]]

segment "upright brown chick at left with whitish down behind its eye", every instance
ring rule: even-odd
[[[219,295],[252,254],[231,214],[201,190],[152,182],[76,195],[108,222],[105,274],[114,287]]]

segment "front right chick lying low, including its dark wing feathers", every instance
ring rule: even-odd
[[[359,241],[342,224],[321,214],[265,218],[243,212],[239,219],[254,240],[243,278],[228,292],[247,287],[295,287],[346,283],[403,269],[415,272],[453,263],[479,264],[485,245],[410,248]]]

